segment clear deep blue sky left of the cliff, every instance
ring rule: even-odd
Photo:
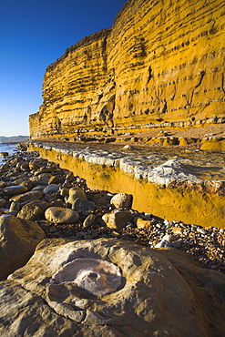
[[[111,27],[125,0],[0,0],[0,136],[28,135],[46,66]]]

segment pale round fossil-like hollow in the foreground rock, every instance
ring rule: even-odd
[[[104,296],[118,290],[121,273],[115,264],[107,260],[76,259],[66,263],[52,279],[60,283],[74,282],[79,288]]]

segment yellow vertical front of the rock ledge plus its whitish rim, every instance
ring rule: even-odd
[[[219,179],[202,179],[199,167],[176,158],[152,167],[152,162],[159,158],[153,156],[146,160],[132,155],[132,151],[126,154],[43,142],[31,142],[29,148],[87,179],[91,189],[131,194],[133,207],[139,211],[201,226],[225,226],[223,167]]]

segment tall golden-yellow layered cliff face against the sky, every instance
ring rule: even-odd
[[[224,0],[129,0],[46,68],[32,138],[224,117]]]

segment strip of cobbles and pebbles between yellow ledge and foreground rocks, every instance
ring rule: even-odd
[[[149,248],[174,247],[225,272],[225,229],[139,213],[131,195],[88,189],[85,179],[37,152],[17,149],[0,169],[1,213],[36,221],[47,238],[118,238]]]

